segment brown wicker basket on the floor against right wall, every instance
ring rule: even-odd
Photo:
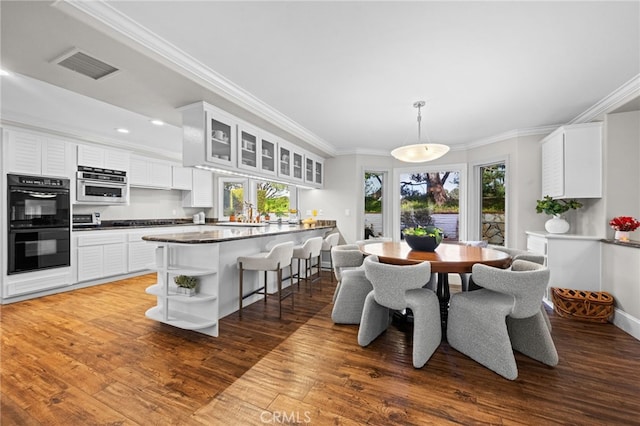
[[[613,296],[604,291],[552,287],[551,297],[561,317],[605,323],[613,315]]]

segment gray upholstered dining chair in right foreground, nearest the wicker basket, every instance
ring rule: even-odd
[[[540,309],[549,270],[518,259],[510,269],[476,264],[472,276],[483,288],[451,297],[449,345],[509,380],[518,377],[513,350],[557,365],[558,353]]]

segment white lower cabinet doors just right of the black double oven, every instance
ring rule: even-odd
[[[84,231],[75,238],[79,282],[127,272],[126,232]]]

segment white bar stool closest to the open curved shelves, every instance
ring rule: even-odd
[[[242,318],[242,301],[254,294],[264,294],[264,303],[267,303],[267,272],[274,271],[277,273],[278,281],[278,309],[279,318],[282,318],[282,300],[291,296],[291,308],[293,308],[293,269],[291,267],[291,258],[293,256],[293,243],[291,241],[280,243],[273,246],[268,252],[262,252],[251,256],[238,257],[238,268],[240,269],[240,292],[238,313]],[[289,277],[291,281],[291,291],[282,294],[282,270],[289,266]],[[242,281],[244,271],[264,271],[264,286],[249,294],[244,294]]]

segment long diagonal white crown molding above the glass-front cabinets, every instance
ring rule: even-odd
[[[324,139],[132,20],[106,1],[58,0],[53,6],[67,14],[83,18],[85,22],[87,21],[87,16],[93,18],[109,32],[115,32],[118,35],[118,39],[128,46],[146,55],[151,52],[154,58],[160,60],[164,65],[169,66],[186,78],[198,81],[200,84],[204,83],[207,89],[233,104],[246,109],[328,155],[333,156],[336,154],[335,147]]]

